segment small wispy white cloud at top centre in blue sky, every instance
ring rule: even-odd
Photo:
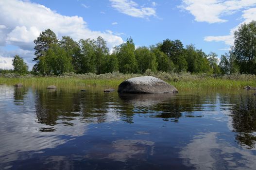
[[[110,0],[113,8],[120,13],[132,17],[147,18],[150,16],[156,17],[155,9],[150,7],[139,7],[139,5],[132,0]]]

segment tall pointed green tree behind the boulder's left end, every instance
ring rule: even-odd
[[[126,40],[115,49],[118,56],[119,71],[122,73],[136,73],[137,60],[135,57],[135,45],[132,38]]]

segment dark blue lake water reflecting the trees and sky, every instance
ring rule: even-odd
[[[0,85],[0,170],[255,170],[253,93]]]

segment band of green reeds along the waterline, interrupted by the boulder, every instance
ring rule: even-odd
[[[98,76],[98,75],[97,75]],[[99,76],[99,77],[74,77],[74,76],[59,76],[59,77],[17,77],[7,78],[0,77],[0,84],[15,85],[21,83],[24,86],[32,86],[34,88],[46,88],[49,85],[56,85],[61,88],[85,88],[87,86],[94,87],[105,87],[105,88],[118,88],[118,85],[131,77],[138,75],[127,74],[122,76],[111,77],[111,76]],[[139,75],[143,76],[143,75]],[[237,80],[227,78],[213,78],[205,76],[199,78],[199,75],[192,75],[191,77],[180,77],[179,79],[170,80],[161,76],[152,75],[160,78],[167,83],[175,86],[178,90],[204,90],[204,89],[242,89],[246,85],[256,86],[256,80],[248,78],[238,78]],[[242,80],[246,79],[246,80]]]

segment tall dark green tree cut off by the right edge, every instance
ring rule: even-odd
[[[239,26],[234,33],[233,52],[243,73],[256,73],[256,21]]]

